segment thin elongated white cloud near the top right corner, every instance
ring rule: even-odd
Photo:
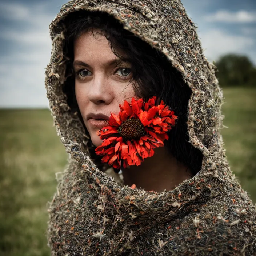
[[[248,12],[244,10],[229,12],[226,10],[219,10],[216,13],[205,16],[205,20],[231,23],[251,23],[256,22],[256,12]]]

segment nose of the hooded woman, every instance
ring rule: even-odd
[[[92,101],[95,104],[111,103],[113,99],[111,85],[109,84],[107,77],[102,73],[93,77],[92,83],[90,84],[88,98],[89,101]]]

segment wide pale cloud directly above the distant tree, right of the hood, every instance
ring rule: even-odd
[[[239,53],[248,55],[256,63],[256,54],[252,50],[256,40],[253,37],[230,35],[218,29],[200,32],[199,36],[205,49],[205,56],[211,61],[226,53]]]

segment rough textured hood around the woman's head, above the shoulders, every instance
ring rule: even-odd
[[[66,151],[89,155],[91,140],[77,112],[72,111],[63,91],[67,81],[68,60],[63,54],[65,25],[68,14],[78,10],[102,11],[115,17],[124,29],[163,53],[182,75],[192,94],[188,103],[189,141],[208,157],[218,144],[218,156],[223,157],[221,136],[222,92],[215,77],[215,66],[207,61],[196,34],[196,26],[187,16],[180,1],[69,1],[50,25],[52,53],[46,68],[47,97],[57,133]],[[214,143],[213,143],[214,144]],[[216,152],[215,152],[216,154]],[[89,161],[89,160],[88,160]]]

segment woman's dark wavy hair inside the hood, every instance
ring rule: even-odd
[[[77,11],[71,13],[63,21],[63,26],[66,39],[64,55],[69,60],[66,71],[67,81],[63,90],[68,96],[68,104],[71,108],[79,112],[72,72],[73,43],[82,33],[92,32],[94,34],[97,29],[107,38],[113,53],[131,64],[133,77],[130,82],[136,96],[145,100],[157,96],[179,117],[177,124],[168,134],[169,140],[165,146],[177,160],[189,167],[193,175],[199,172],[202,155],[189,143],[187,131],[188,100],[191,96],[191,89],[184,82],[181,73],[172,67],[167,57],[125,30],[118,20],[104,12]],[[70,84],[73,86],[70,87]]]

